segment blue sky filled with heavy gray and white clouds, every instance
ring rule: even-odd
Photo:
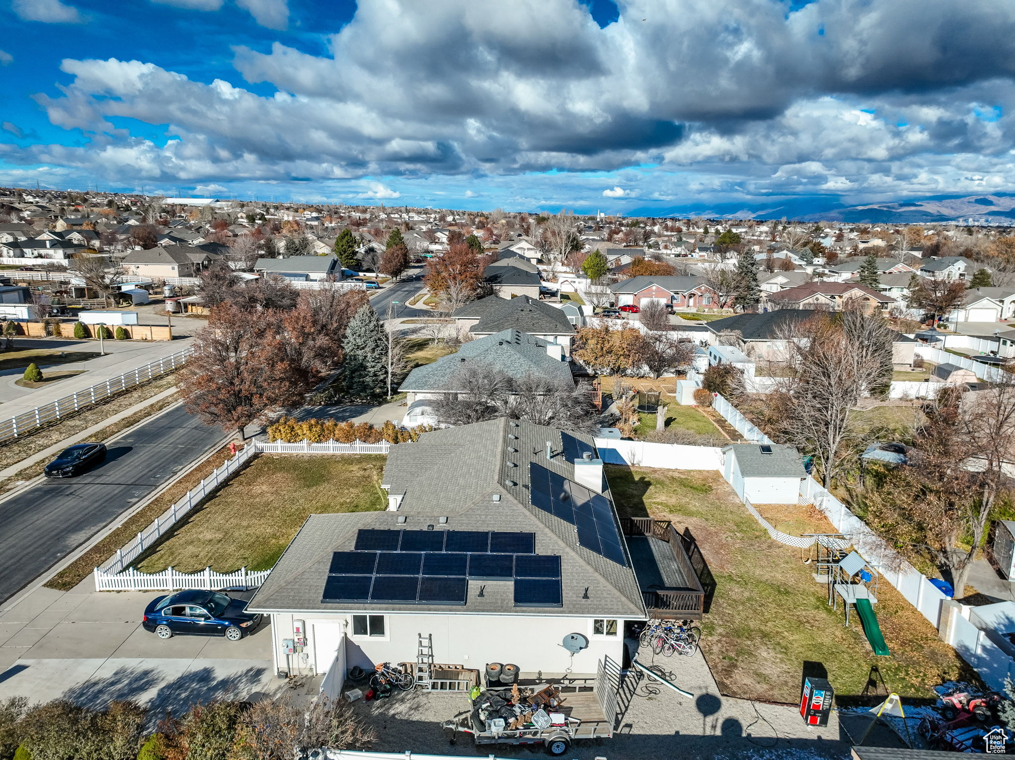
[[[0,185],[667,215],[1015,191],[1011,0],[0,0]]]

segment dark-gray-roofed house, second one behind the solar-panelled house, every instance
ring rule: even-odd
[[[452,317],[460,336],[482,338],[514,329],[556,343],[562,347],[564,356],[570,356],[574,327],[567,314],[538,298],[519,295],[505,300],[488,295],[460,306]]]

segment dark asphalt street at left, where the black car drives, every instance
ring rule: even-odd
[[[0,602],[224,437],[175,407],[108,442],[104,465],[0,502]]]

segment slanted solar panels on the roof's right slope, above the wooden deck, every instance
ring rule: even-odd
[[[585,486],[535,462],[529,463],[529,500],[533,506],[578,529],[578,543],[619,565],[627,566],[610,502]]]

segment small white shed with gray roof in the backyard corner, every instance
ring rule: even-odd
[[[795,504],[807,473],[796,448],[777,443],[735,443],[723,450],[723,476],[741,499]]]

